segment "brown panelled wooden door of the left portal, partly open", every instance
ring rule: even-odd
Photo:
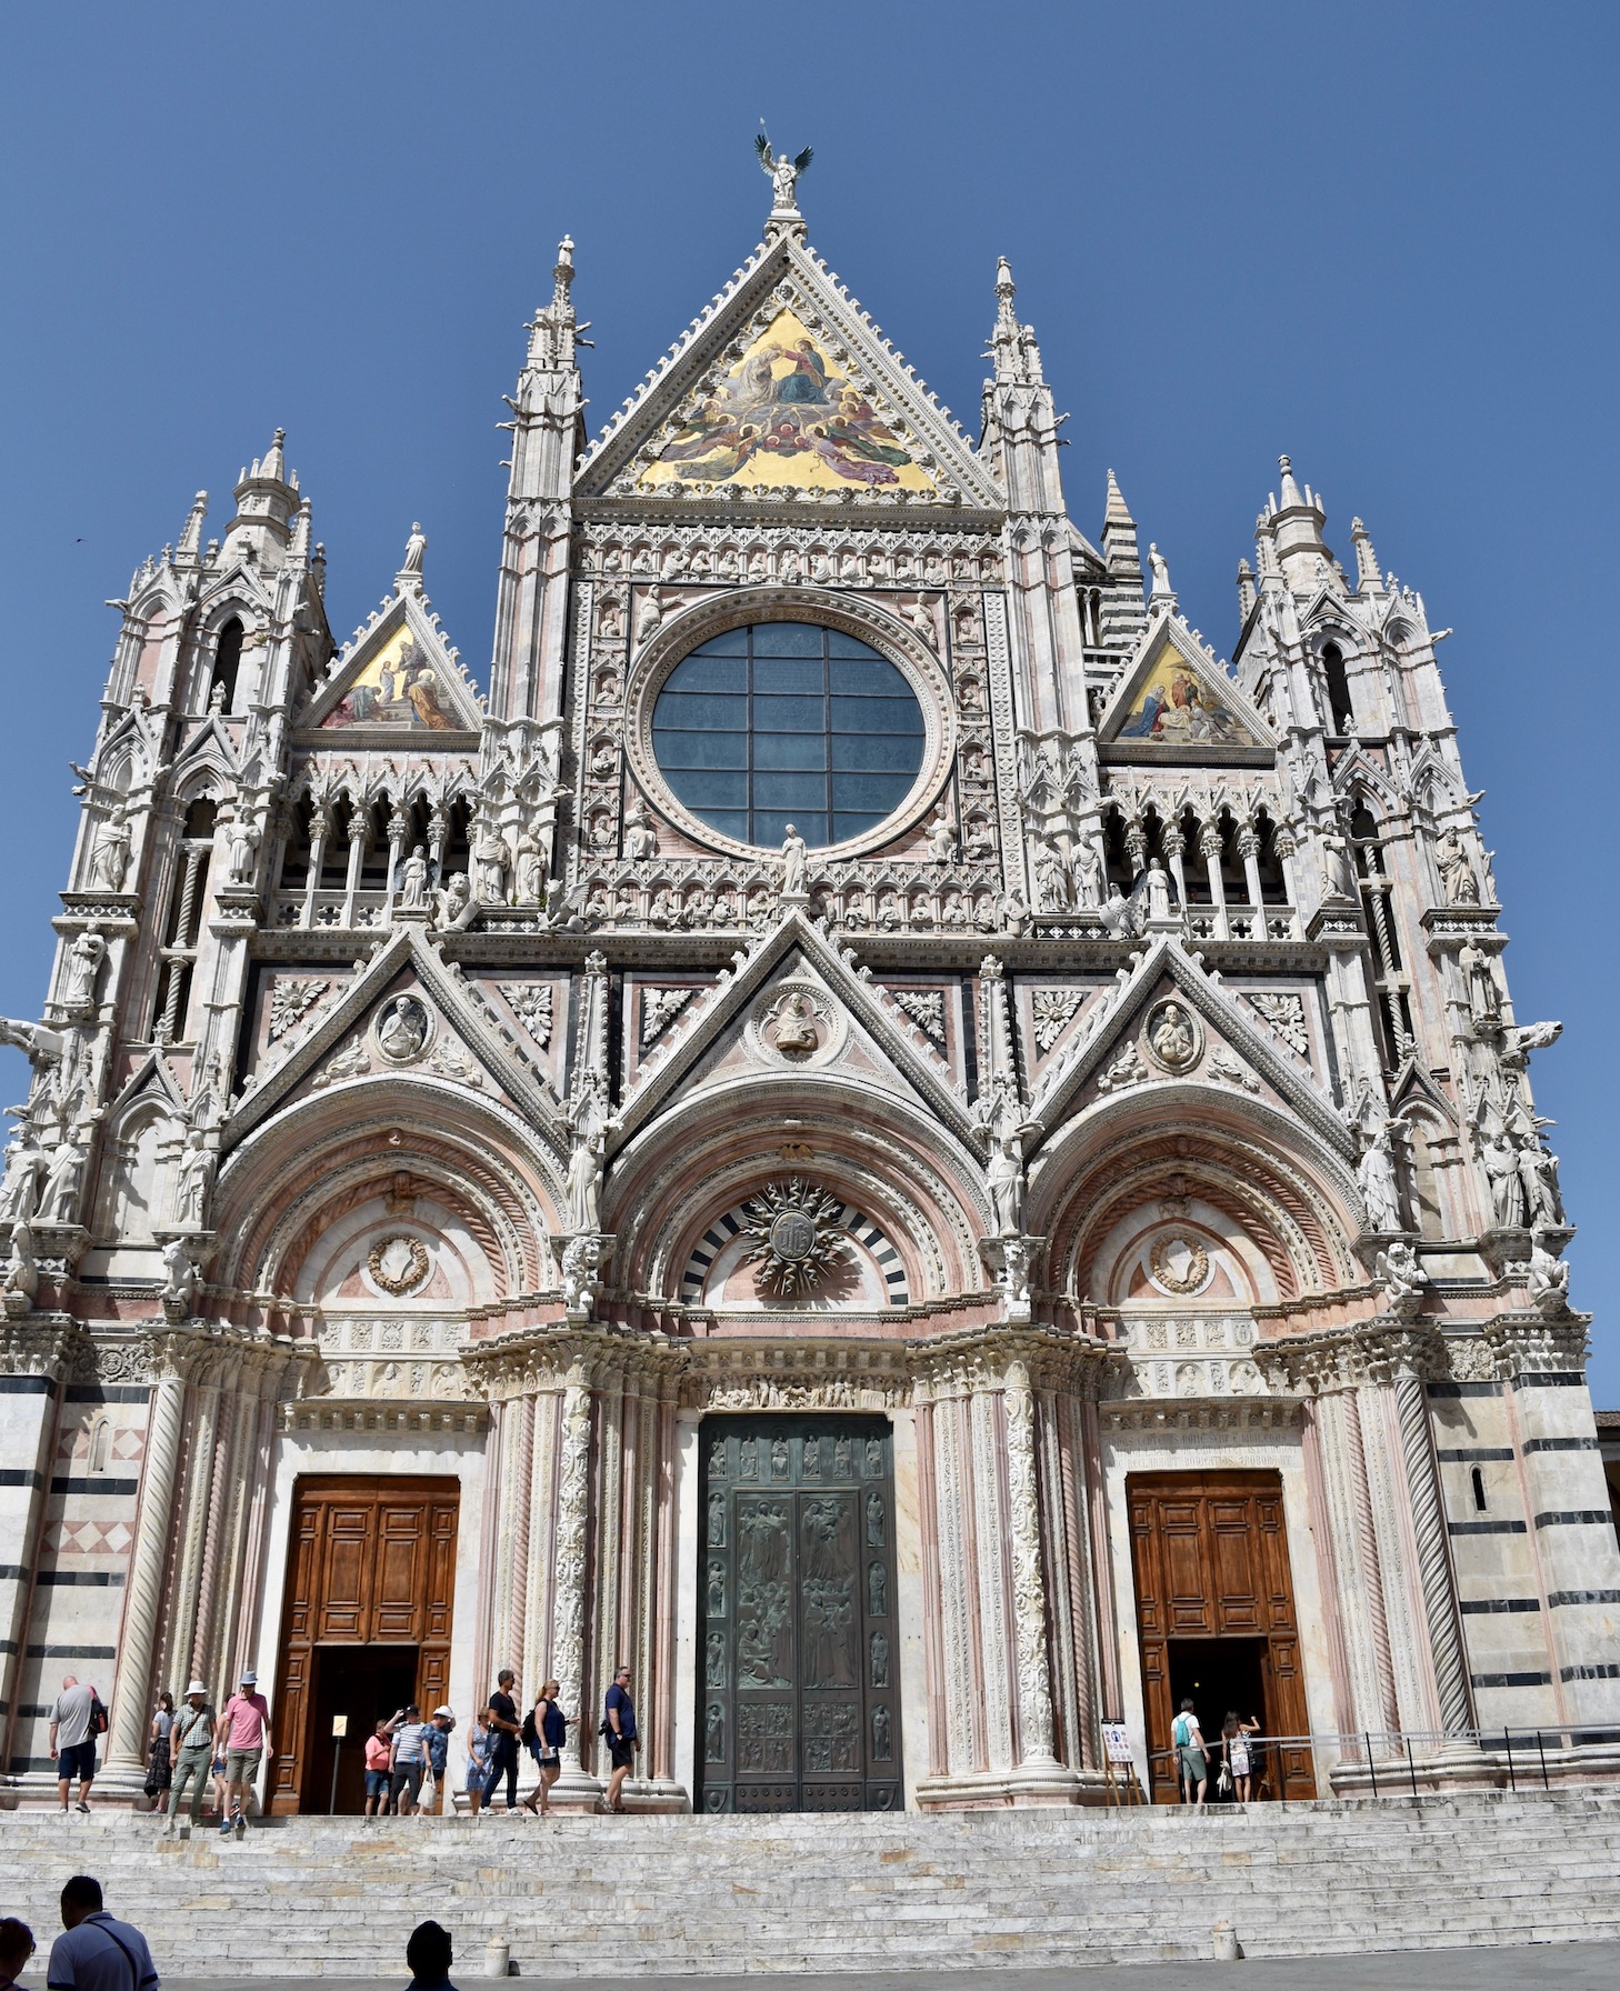
[[[454,1479],[299,1479],[287,1551],[287,1603],[273,1702],[277,1758],[271,1810],[297,1812],[314,1718],[314,1655],[326,1647],[414,1647],[416,1692],[434,1708],[450,1686],[450,1609],[456,1583]],[[324,1758],[322,1758],[324,1762]]]

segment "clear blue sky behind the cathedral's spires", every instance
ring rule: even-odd
[[[412,518],[488,675],[504,416],[573,233],[593,426],[758,237],[750,141],[973,426],[995,257],[1069,504],[1113,464],[1226,653],[1276,456],[1425,595],[1620,1406],[1614,745],[1620,10],[283,0],[12,8],[0,76],[0,1013],[38,1015],[101,603],[289,430],[338,635]],[[229,512],[221,514],[229,516]],[[14,1087],[22,1061],[6,1053]]]

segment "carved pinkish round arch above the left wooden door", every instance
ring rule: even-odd
[[[460,1310],[547,1292],[563,1173],[563,1159],[492,1101],[404,1075],[340,1085],[271,1117],[231,1155],[213,1278],[318,1304],[322,1280],[340,1278],[342,1254],[370,1230],[412,1232],[388,1215],[412,1201],[446,1226],[442,1290],[424,1296]]]

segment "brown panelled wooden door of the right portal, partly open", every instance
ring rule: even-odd
[[[1310,1726],[1282,1475],[1130,1473],[1124,1487],[1152,1796],[1174,1804],[1176,1772],[1164,1752],[1174,1720],[1170,1660],[1176,1641],[1264,1639],[1272,1734],[1300,1736]],[[1270,1754],[1278,1796],[1316,1796],[1308,1748]]]

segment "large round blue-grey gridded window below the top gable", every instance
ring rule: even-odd
[[[653,707],[653,755],[712,830],[812,848],[862,836],[917,778],[923,715],[870,643],[818,623],[726,629],[681,659]]]

